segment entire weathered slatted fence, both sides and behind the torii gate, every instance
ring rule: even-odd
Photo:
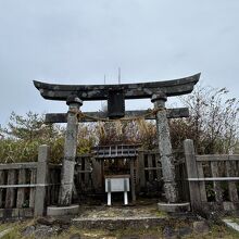
[[[194,211],[238,209],[239,155],[197,155],[192,140],[185,140],[184,149],[175,160],[179,199],[190,200]],[[61,165],[49,164],[49,151],[41,146],[38,162],[0,164],[0,218],[40,216],[58,204]],[[134,172],[137,193],[163,197],[158,151],[139,151]],[[90,154],[76,159],[75,189],[76,202],[80,194],[104,193],[102,161]]]

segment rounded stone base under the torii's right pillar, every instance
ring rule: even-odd
[[[167,212],[167,213],[176,213],[176,212],[188,212],[190,211],[190,203],[184,202],[184,203],[158,203],[158,209],[161,212]]]

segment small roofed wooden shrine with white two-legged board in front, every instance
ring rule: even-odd
[[[137,144],[101,146],[95,148],[95,159],[101,162],[101,175],[105,178],[105,191],[108,204],[111,204],[111,192],[123,191],[124,202],[128,204],[127,191],[130,191],[133,203],[136,201],[136,160],[138,155]],[[105,161],[111,161],[106,164]]]

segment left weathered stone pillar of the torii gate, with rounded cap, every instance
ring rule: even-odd
[[[66,104],[68,105],[68,113],[64,143],[64,160],[61,173],[61,188],[59,196],[59,204],[63,206],[71,205],[72,203],[72,189],[74,184],[74,169],[78,133],[77,112],[83,105],[83,101],[77,97],[71,96],[67,98]]]

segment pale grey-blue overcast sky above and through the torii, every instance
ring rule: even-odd
[[[0,0],[0,124],[10,113],[66,112],[33,79],[117,84],[202,73],[239,92],[238,0]],[[150,101],[131,103],[149,108]],[[85,111],[100,103],[85,103]]]

